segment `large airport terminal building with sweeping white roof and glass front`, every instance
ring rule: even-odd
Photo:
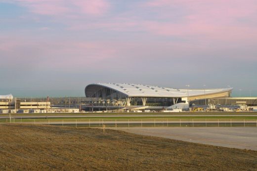
[[[233,88],[181,89],[136,84],[89,84],[88,98],[121,106],[148,106],[150,108],[188,108],[195,100],[230,97]]]

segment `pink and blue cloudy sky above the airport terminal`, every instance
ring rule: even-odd
[[[90,83],[257,96],[257,0],[0,0],[0,94]]]

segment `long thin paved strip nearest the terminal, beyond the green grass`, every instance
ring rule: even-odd
[[[91,118],[91,117],[99,117],[99,118],[102,118],[102,117],[202,117],[202,116],[210,116],[210,117],[230,117],[230,116],[244,116],[244,117],[248,117],[248,116],[252,116],[252,117],[257,117],[256,114],[252,114],[252,115],[249,115],[249,114],[245,114],[245,115],[240,115],[240,114],[237,114],[237,115],[226,115],[226,114],[223,114],[223,115],[209,115],[209,114],[206,114],[206,115],[194,115],[194,114],[191,114],[191,115],[94,115],[94,114],[90,114],[90,115],[61,115],[61,114],[55,114],[55,115],[47,115],[47,114],[44,114],[44,115],[41,115],[41,114],[27,114],[27,115],[24,115],[24,114],[11,114],[11,117],[12,118]],[[9,118],[9,115],[2,115],[0,116],[0,118]]]

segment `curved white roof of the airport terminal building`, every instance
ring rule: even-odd
[[[177,88],[166,88],[161,86],[152,85],[136,85],[136,84],[115,84],[115,83],[98,83],[90,84],[88,86],[103,86],[111,88],[116,91],[120,91],[127,96],[133,97],[187,97],[187,96],[198,96],[204,94],[213,94],[231,91],[233,88],[215,88],[215,89],[177,89]],[[188,94],[187,94],[188,91]]]

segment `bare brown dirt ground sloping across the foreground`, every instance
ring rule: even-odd
[[[0,170],[257,170],[257,151],[119,130],[0,125]]]

